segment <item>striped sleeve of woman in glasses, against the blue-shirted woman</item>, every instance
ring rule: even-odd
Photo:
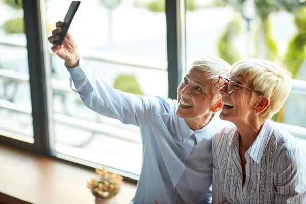
[[[212,140],[212,155],[213,155],[213,184],[212,184],[212,203],[228,203],[226,197],[224,196],[221,188],[221,175],[218,164],[218,155],[220,153],[220,148],[217,147],[218,139],[224,138],[223,131],[217,133]]]

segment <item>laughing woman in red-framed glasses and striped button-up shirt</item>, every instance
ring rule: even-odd
[[[212,141],[213,203],[306,203],[306,154],[270,120],[290,90],[288,71],[260,59],[236,62],[219,77],[223,120]]]

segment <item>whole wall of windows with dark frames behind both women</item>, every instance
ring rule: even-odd
[[[137,179],[139,129],[86,108],[46,43],[70,2],[0,0],[0,142]],[[294,80],[273,120],[306,148],[305,7],[278,2],[263,10],[244,2],[186,0],[184,12],[183,0],[82,1],[69,31],[98,77],[146,96],[176,98],[185,64],[202,56],[274,61]]]

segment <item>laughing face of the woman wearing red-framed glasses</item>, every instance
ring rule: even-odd
[[[231,80],[248,88],[252,88],[252,83],[246,82],[242,77],[233,77]],[[220,88],[219,91],[222,95],[222,103],[224,105],[220,113],[222,120],[228,120],[234,124],[251,120],[254,110],[253,105],[250,103],[252,91],[240,87],[237,87],[232,94],[226,93],[225,87]]]

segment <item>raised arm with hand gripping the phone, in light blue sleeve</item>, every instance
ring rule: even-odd
[[[62,22],[57,22],[57,29],[49,37],[50,43],[59,38]],[[91,110],[115,119],[125,124],[140,126],[150,122],[157,115],[168,112],[167,103],[163,98],[142,97],[125,94],[114,90],[103,80],[96,78],[93,71],[79,57],[77,44],[67,33],[63,45],[53,46],[52,50],[65,60],[70,72],[70,85],[80,94],[83,103]]]

